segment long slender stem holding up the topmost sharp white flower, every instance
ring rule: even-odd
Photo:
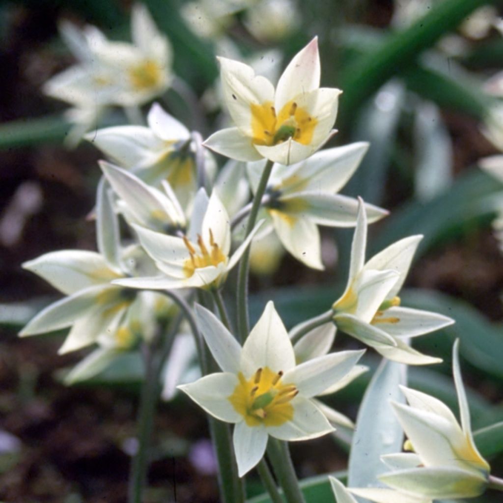
[[[262,177],[257,187],[257,192],[255,193],[255,198],[253,200],[253,205],[251,205],[250,214],[248,217],[248,223],[246,225],[245,238],[250,234],[250,232],[255,227],[255,222],[257,221],[257,215],[262,204],[262,197],[266,192],[267,182],[271,176],[273,170],[274,162],[268,160],[264,171],[262,172]],[[250,257],[250,247],[248,246],[241,257],[239,262],[239,271],[237,276],[237,331],[239,340],[244,343],[246,337],[248,336],[248,265]]]

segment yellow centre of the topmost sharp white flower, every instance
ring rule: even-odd
[[[308,145],[318,121],[295,101],[286,103],[277,114],[273,103],[251,104],[251,129],[257,145],[278,145],[289,138]]]

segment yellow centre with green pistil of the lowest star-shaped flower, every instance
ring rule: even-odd
[[[239,383],[228,399],[248,426],[280,426],[291,421],[290,402],[299,391],[293,384],[281,382],[283,372],[264,367],[248,380],[241,372],[237,377]]]

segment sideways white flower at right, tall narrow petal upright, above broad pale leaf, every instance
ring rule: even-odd
[[[406,344],[407,338],[454,323],[451,318],[437,313],[400,307],[397,294],[422,237],[401,239],[365,262],[367,217],[360,200],[348,285],[332,306],[333,321],[338,328],[385,358],[408,365],[427,365],[441,360],[413,350]]]

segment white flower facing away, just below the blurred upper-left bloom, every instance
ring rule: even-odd
[[[112,161],[131,170],[145,183],[167,181],[187,208],[196,191],[195,146],[190,131],[154,103],[147,115],[148,127],[116,126],[99,129],[86,139]],[[214,172],[214,160],[205,150],[206,172]]]

